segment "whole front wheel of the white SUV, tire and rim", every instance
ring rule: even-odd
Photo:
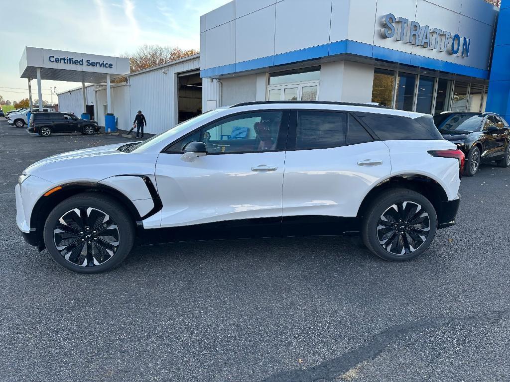
[[[84,193],[64,200],[49,213],[43,236],[57,263],[74,272],[95,274],[124,261],[133,248],[135,228],[131,216],[114,199]]]

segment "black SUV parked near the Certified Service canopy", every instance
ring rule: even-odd
[[[93,134],[99,131],[96,121],[80,119],[72,113],[35,113],[30,118],[29,132],[49,137],[55,132],[81,132]]]

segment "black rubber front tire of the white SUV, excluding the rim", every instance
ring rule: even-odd
[[[53,238],[55,222],[73,208],[92,207],[106,212],[112,217],[119,230],[119,244],[114,256],[101,265],[80,266],[67,261],[57,250]],[[58,204],[48,215],[43,229],[46,248],[54,260],[64,268],[79,273],[100,273],[118,266],[130,253],[134,242],[134,227],[129,214],[113,199],[93,194],[81,194],[70,197]]]

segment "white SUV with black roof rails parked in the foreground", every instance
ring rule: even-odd
[[[333,102],[219,108],[145,142],[23,171],[16,221],[64,267],[94,273],[139,242],[361,232],[412,259],[455,223],[464,154],[423,114]]]

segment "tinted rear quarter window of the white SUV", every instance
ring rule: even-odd
[[[434,124],[432,116],[412,119],[376,113],[356,113],[356,115],[382,141],[443,139]]]

